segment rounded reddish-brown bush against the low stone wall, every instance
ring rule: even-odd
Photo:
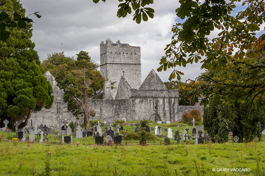
[[[193,109],[190,112],[185,112],[185,114],[182,115],[181,122],[188,125],[193,125],[191,122],[193,119],[196,121],[195,125],[201,125],[201,111],[198,109]]]

